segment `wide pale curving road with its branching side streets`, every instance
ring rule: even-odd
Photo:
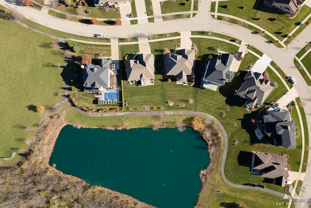
[[[287,76],[295,76],[297,80],[295,88],[297,89],[301,100],[304,101],[304,110],[306,113],[307,121],[308,123],[311,122],[311,90],[294,66],[295,54],[297,54],[306,45],[307,42],[311,41],[310,26],[307,27],[302,33],[300,33],[299,36],[288,45],[288,47],[280,49],[275,45],[267,42],[267,40],[262,38],[260,35],[252,34],[251,31],[246,28],[231,24],[229,22],[212,19],[209,15],[210,0],[200,1],[198,13],[194,18],[191,19],[175,19],[170,21],[147,23],[143,25],[122,25],[113,27],[85,25],[79,22],[58,19],[31,7],[15,5],[15,1],[11,0],[0,0],[0,4],[10,8],[16,8],[27,19],[31,19],[44,26],[87,37],[90,37],[91,34],[97,33],[107,34],[107,36],[115,38],[141,37],[152,35],[154,33],[171,33],[176,31],[188,31],[191,29],[192,31],[198,30],[222,33],[224,35],[244,40],[274,60]],[[311,135],[311,128],[309,128],[309,135]],[[309,163],[307,166],[306,175],[311,175],[310,161],[311,154],[309,154]],[[303,187],[306,189],[306,191],[300,192],[301,197],[311,198],[311,177],[305,178]]]

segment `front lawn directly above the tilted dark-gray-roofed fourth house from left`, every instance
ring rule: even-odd
[[[222,51],[227,53],[234,53],[239,50],[238,46],[228,44],[223,41],[207,39],[207,38],[190,38],[192,43],[198,48],[198,53],[195,55],[196,59],[201,59],[203,55],[218,54],[217,48],[220,47]]]

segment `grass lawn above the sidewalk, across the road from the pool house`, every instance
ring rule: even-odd
[[[84,17],[89,17],[89,18],[102,18],[102,19],[117,19],[121,18],[120,12],[115,12],[112,9],[109,9],[108,11],[104,12],[100,8],[94,7],[94,6],[81,6],[81,10],[86,10],[89,9],[91,13],[85,14],[85,15],[80,15],[77,14],[77,10],[73,7],[53,7],[53,9],[66,12],[72,15],[79,15],[79,16],[84,16]]]

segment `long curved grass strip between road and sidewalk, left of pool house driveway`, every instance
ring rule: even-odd
[[[64,33],[64,32],[61,32],[61,31],[57,31],[57,30],[53,30],[51,28],[48,28],[48,27],[45,27],[45,26],[42,26],[40,24],[37,24],[29,19],[22,19],[21,20],[23,23],[37,29],[37,30],[41,30],[43,32],[46,32],[46,33],[50,33],[52,35],[56,35],[56,36],[60,36],[60,37],[64,37],[64,38],[73,38],[73,39],[79,39],[79,40],[86,40],[86,41],[96,41],[96,42],[110,42],[110,39],[105,39],[105,38],[88,38],[88,37],[84,37],[84,36],[76,36],[76,35],[72,35],[72,34],[69,34],[69,33]],[[90,34],[91,35],[91,34]]]

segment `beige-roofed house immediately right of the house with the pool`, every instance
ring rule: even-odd
[[[130,84],[138,86],[155,84],[155,61],[153,54],[136,54],[125,61],[125,71]]]

